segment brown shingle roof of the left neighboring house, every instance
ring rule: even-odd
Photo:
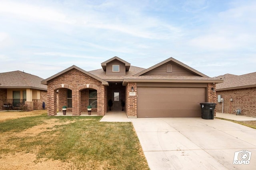
[[[44,79],[22,71],[10,71],[0,73],[0,88],[26,88],[47,91],[47,86],[41,84],[42,80]]]

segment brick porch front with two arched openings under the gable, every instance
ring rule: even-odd
[[[97,115],[105,115],[105,105],[107,105],[104,98],[106,95],[105,86],[102,85],[101,81],[98,81],[77,69],[67,71],[66,73],[48,82],[48,115],[51,116],[57,114],[57,90],[59,90],[59,111],[62,111],[62,106],[67,106],[67,89],[72,90],[72,108],[68,108],[67,112],[72,111],[72,115],[74,116],[81,115],[81,112],[85,109],[83,106],[84,104],[82,103],[85,102],[85,97],[82,95],[86,95],[86,92],[83,90],[88,88],[97,90]]]

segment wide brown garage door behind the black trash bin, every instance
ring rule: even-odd
[[[138,87],[138,117],[201,117],[202,87]]]

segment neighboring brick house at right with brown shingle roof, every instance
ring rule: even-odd
[[[241,115],[256,117],[256,72],[215,78],[224,80],[216,85],[217,95],[224,99],[223,113],[236,114],[235,111],[241,109]],[[217,102],[216,111],[222,112],[222,103]]]

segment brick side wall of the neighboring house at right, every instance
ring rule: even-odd
[[[241,115],[256,117],[256,87],[217,91],[217,95],[224,99],[224,113],[236,114],[235,110],[240,108]],[[222,112],[222,103],[216,103],[216,111]]]

